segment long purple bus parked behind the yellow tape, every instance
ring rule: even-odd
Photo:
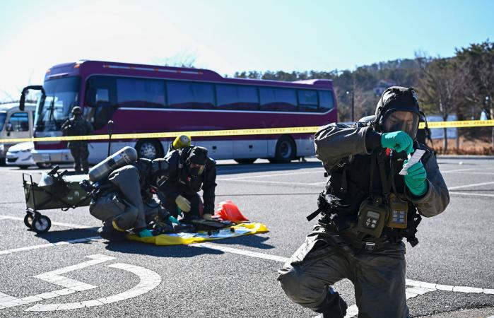
[[[296,82],[224,78],[206,69],[78,61],[47,70],[35,118],[35,137],[61,136],[74,105],[107,134],[320,126],[336,122],[331,80]],[[27,88],[26,88],[27,89]],[[24,94],[24,91],[23,91]],[[21,97],[21,100],[23,98]],[[112,153],[135,147],[143,158],[163,157],[172,139],[112,140]],[[286,163],[314,155],[313,134],[193,137],[215,159]],[[107,141],[91,141],[90,163],[107,155]],[[37,163],[69,163],[66,142],[36,142]]]

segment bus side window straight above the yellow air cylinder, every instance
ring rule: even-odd
[[[168,107],[205,110],[215,106],[213,84],[167,81]]]

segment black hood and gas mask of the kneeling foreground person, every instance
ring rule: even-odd
[[[382,132],[401,130],[416,139],[420,116],[415,90],[392,86],[384,90],[377,102],[375,129]]]

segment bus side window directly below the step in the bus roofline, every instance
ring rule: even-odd
[[[216,85],[216,98],[222,110],[259,110],[254,86]]]

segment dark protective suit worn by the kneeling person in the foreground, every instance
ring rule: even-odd
[[[346,304],[331,285],[348,278],[355,285],[358,317],[408,317],[405,295],[405,245],[402,237],[413,236],[406,230],[384,228],[381,237],[363,236],[355,229],[360,203],[369,194],[370,155],[366,135],[372,127],[329,124],[314,136],[317,158],[329,174],[326,195],[332,198],[336,213],[323,213],[319,225],[307,236],[304,244],[278,271],[278,281],[288,298],[324,317],[343,317]],[[414,148],[425,148],[415,143]],[[376,150],[377,153],[380,149]],[[427,172],[428,191],[413,196],[397,175],[403,161],[380,154],[390,173],[394,167],[396,191],[406,196],[408,225],[414,213],[435,216],[449,204],[449,194],[435,157],[430,151],[422,162]],[[373,193],[382,192],[379,169],[372,180]],[[416,208],[416,211],[415,211]],[[412,229],[413,230],[413,229]],[[368,247],[368,248],[366,248]]]

